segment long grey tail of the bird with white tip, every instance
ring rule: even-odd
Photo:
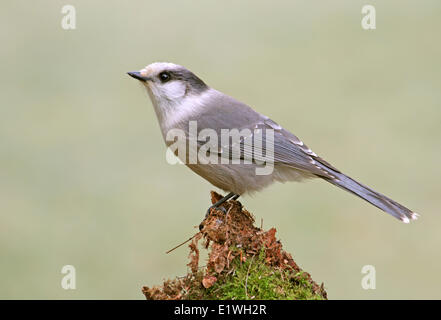
[[[413,212],[412,210],[407,209],[402,206],[398,202],[395,202],[392,199],[389,199],[385,195],[372,190],[371,188],[362,185],[361,183],[351,179],[347,175],[337,172],[334,170],[330,170],[332,175],[335,176],[335,179],[323,178],[324,180],[332,183],[333,185],[340,187],[346,191],[349,191],[356,196],[366,200],[367,202],[373,204],[377,208],[389,213],[397,219],[405,223],[409,223],[410,220],[415,220],[418,218],[418,214]]]

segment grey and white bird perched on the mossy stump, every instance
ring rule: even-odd
[[[242,195],[261,191],[274,182],[320,178],[404,223],[419,217],[398,202],[345,175],[290,131],[245,103],[211,88],[183,66],[155,62],[127,74],[139,80],[147,90],[166,146],[170,148],[176,142],[176,137],[169,139],[170,133],[180,132],[183,140],[174,146],[174,154],[196,174],[227,193],[208,208],[207,215],[212,208],[220,208],[229,199],[236,200]],[[197,125],[193,136],[192,124],[193,127]],[[231,142],[230,136],[222,140],[224,132],[231,133],[233,130],[246,134],[239,135],[235,142]],[[203,132],[209,132],[209,137],[217,134],[217,137],[201,139]],[[193,142],[192,146],[196,148],[194,155],[201,151],[204,143],[208,144],[207,140],[213,141],[202,154],[217,161],[202,161],[198,157],[196,161],[190,161],[191,148],[185,148],[179,154],[183,150],[179,146],[189,146]],[[247,141],[254,142],[254,149],[247,148]],[[265,158],[267,154],[271,157]],[[269,170],[257,174],[257,170],[263,170],[265,166],[270,166]]]

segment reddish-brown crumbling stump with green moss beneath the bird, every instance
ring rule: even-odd
[[[221,195],[211,192],[215,203]],[[152,300],[298,300],[327,299],[323,283],[294,262],[276,239],[276,229],[254,226],[254,218],[239,201],[212,209],[189,245],[189,273],[160,286],[143,287]],[[199,267],[199,242],[208,250]]]

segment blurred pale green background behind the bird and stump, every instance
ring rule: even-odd
[[[61,8],[76,8],[63,30]],[[143,299],[186,273],[207,182],[165,161],[125,72],[155,61],[298,135],[421,214],[409,225],[322,181],[242,203],[331,299],[441,298],[441,2],[2,1],[0,298]],[[376,289],[361,268],[376,268]],[[77,289],[61,288],[76,268]]]

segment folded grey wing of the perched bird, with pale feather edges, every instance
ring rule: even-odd
[[[268,155],[268,143],[271,143],[268,130],[271,130],[274,133],[274,148],[273,159],[269,161],[272,160],[274,164],[283,164],[323,178],[332,179],[330,171],[339,172],[317,156],[294,134],[234,98],[220,94],[215,96],[210,104],[193,120],[197,121],[198,132],[207,128],[217,132],[219,137],[217,150],[213,148],[210,152],[217,152],[219,157],[228,157],[231,160],[237,157],[237,154],[232,150],[234,146],[231,143],[222,145],[222,129],[238,129],[239,132],[243,132],[245,129],[248,131],[248,134],[240,137],[241,152],[239,157],[253,161],[262,161],[259,155]],[[206,143],[207,139],[198,140],[199,146]],[[252,149],[246,147],[250,143]],[[268,161],[268,158],[265,157],[265,160]]]

